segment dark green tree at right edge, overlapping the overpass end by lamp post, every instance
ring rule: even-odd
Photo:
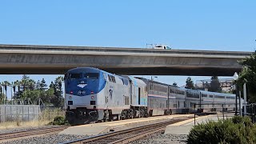
[[[246,83],[249,102],[256,102],[256,52],[239,63],[243,68],[239,74],[238,88],[242,90],[242,85]]]

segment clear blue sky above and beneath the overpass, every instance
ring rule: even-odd
[[[254,51],[256,1],[1,1],[0,43]],[[58,75],[29,75],[54,80]],[[21,75],[0,75],[15,81]],[[183,77],[160,82],[185,84]],[[192,77],[193,80],[208,77]]]

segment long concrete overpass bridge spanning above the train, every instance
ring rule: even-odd
[[[0,45],[0,74],[65,74],[93,66],[114,74],[231,76],[251,52]]]

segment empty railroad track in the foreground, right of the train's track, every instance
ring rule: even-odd
[[[92,136],[89,138],[82,138],[71,142],[64,142],[62,144],[78,144],[78,143],[94,143],[94,144],[118,144],[118,143],[128,143],[132,142],[138,138],[145,137],[149,134],[154,134],[160,130],[165,130],[166,126],[176,123],[176,122],[182,122],[188,118],[182,118],[182,119],[171,119],[168,122],[160,122],[155,124],[150,124],[146,126],[139,126],[135,128],[131,128],[128,130],[120,130],[116,132],[110,132],[108,134],[100,134],[96,136]]]

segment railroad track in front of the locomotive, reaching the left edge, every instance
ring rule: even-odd
[[[58,132],[61,130],[65,130],[69,126],[54,126],[54,127],[47,127],[47,128],[42,128],[42,129],[33,129],[33,130],[22,130],[22,131],[17,131],[17,132],[12,132],[12,133],[5,133],[5,134],[0,134],[0,142],[5,141],[5,140],[13,140],[13,139],[20,139],[28,136],[35,136],[38,134],[50,134],[54,132]]]

